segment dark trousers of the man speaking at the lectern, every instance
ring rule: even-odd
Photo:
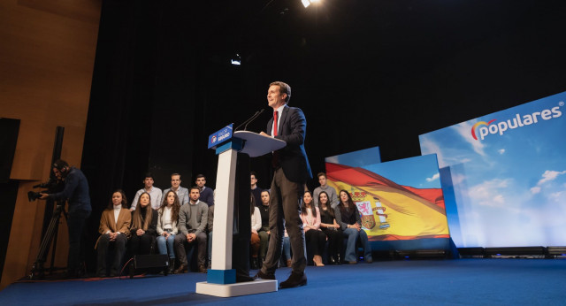
[[[291,266],[293,272],[302,274],[307,265],[304,248],[304,233],[302,231],[302,220],[299,217],[301,205],[299,199],[302,197],[304,187],[302,184],[287,180],[283,169],[279,168],[273,173],[270,208],[269,228],[270,240],[265,257],[262,272],[274,273],[279,264],[281,249],[283,248],[283,220],[291,242],[293,258]]]

